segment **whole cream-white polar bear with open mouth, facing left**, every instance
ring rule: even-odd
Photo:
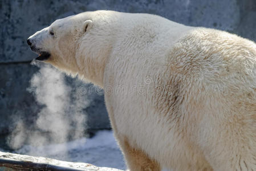
[[[135,170],[256,170],[256,44],[151,14],[93,11],[30,36],[38,60],[104,89]]]

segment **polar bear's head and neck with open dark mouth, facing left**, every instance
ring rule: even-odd
[[[94,11],[58,19],[27,39],[36,60],[102,86],[105,60],[116,29],[114,11]]]

